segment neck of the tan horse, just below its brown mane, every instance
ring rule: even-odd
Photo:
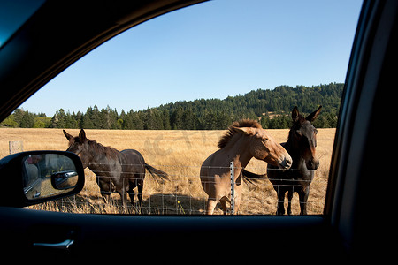
[[[234,167],[244,168],[248,165],[250,159],[253,157],[248,146],[249,137],[237,134],[223,148],[227,156],[230,157],[230,160],[233,161]]]

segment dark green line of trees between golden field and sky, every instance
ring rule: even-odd
[[[235,120],[252,118],[264,128],[288,128],[290,112],[298,106],[310,113],[323,106],[314,122],[318,128],[335,127],[344,84],[331,83],[313,87],[279,86],[273,90],[257,89],[245,95],[220,99],[173,102],[147,110],[121,110],[107,106],[86,112],[57,110],[53,117],[17,109],[0,124],[21,128],[84,128],[117,130],[223,130]]]

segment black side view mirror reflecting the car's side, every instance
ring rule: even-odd
[[[0,205],[25,207],[79,193],[84,170],[78,155],[29,151],[0,160]]]

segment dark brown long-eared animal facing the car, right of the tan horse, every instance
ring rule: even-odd
[[[302,117],[297,107],[292,110],[293,126],[290,128],[287,142],[281,143],[293,159],[290,170],[279,170],[272,164],[267,166],[267,175],[278,194],[277,215],[285,214],[285,193],[287,192],[287,215],[292,214],[293,193],[299,194],[300,215],[307,215],[307,200],[310,184],[314,178],[314,170],[318,169],[319,160],[316,156],[317,129],[311,125],[319,115],[322,106],[307,117]],[[249,178],[264,178],[244,170],[243,175]]]

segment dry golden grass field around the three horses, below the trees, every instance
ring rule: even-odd
[[[66,130],[77,135],[80,130]],[[283,142],[287,140],[287,129],[269,130],[269,133]],[[225,131],[117,131],[86,130],[87,137],[118,150],[134,148],[142,153],[146,163],[164,170],[170,181],[159,184],[147,174],[144,181],[143,214],[203,214],[207,194],[203,192],[199,171],[203,161],[217,148]],[[325,190],[333,149],[335,129],[318,129],[318,158],[320,166],[310,186],[308,213],[322,214]],[[9,155],[9,141],[23,141],[24,151],[65,150],[67,140],[60,129],[13,129],[0,128],[0,157]],[[252,159],[247,167],[256,173],[264,173],[266,163]],[[135,213],[128,202],[128,208],[120,205],[118,193],[111,196],[111,205],[104,205],[96,185],[94,174],[86,169],[86,184],[83,190],[62,201],[52,201],[32,208],[75,213]],[[276,192],[267,180],[259,180],[256,186],[243,186],[240,215],[274,215],[277,207]],[[300,212],[298,195],[292,202],[293,214]],[[222,214],[217,208],[216,214]]]

